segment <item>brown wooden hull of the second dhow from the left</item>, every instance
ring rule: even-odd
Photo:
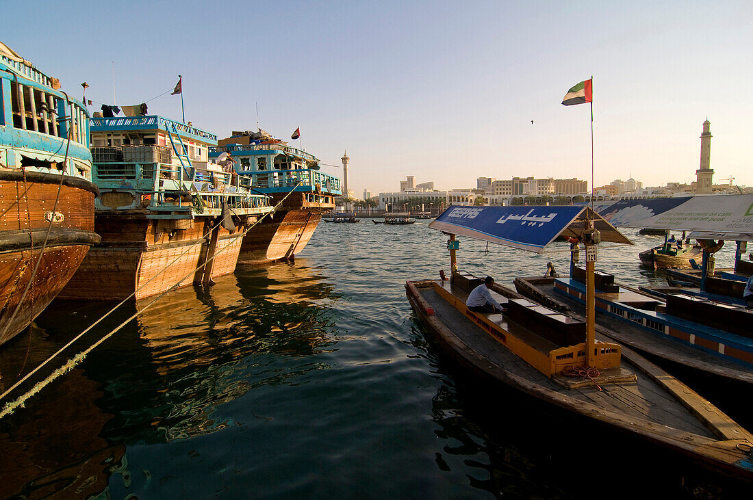
[[[60,293],[65,299],[122,300],[156,295],[176,286],[211,282],[235,270],[242,232],[255,220],[249,216],[230,234],[218,228],[215,258],[206,268],[215,217],[194,220],[150,219],[137,211],[102,211],[96,229],[102,244],[93,248]],[[206,271],[205,271],[206,269]]]

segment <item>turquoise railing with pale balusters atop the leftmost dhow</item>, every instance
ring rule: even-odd
[[[50,77],[5,56],[0,59],[13,71],[0,71],[0,90],[10,96],[14,129],[52,135],[89,147],[89,111],[81,102],[53,89]],[[2,68],[0,68],[2,70]],[[2,101],[0,101],[2,102]],[[7,105],[6,105],[7,107]],[[34,144],[30,144],[34,147]]]

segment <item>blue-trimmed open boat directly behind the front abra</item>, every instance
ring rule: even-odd
[[[571,277],[519,277],[515,288],[557,311],[583,315],[585,271],[574,269]],[[739,323],[753,320],[753,313],[744,305],[722,305],[680,290],[662,299],[614,284],[614,276],[604,272],[596,272],[595,282],[602,335],[703,374],[753,383],[753,334],[746,328],[750,323]]]

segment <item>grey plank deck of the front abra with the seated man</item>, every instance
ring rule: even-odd
[[[437,319],[444,323],[468,347],[468,350],[475,353],[475,356],[483,358],[484,363],[496,365],[501,371],[506,372],[508,377],[530,380],[545,389],[569,395],[581,402],[596,405],[615,414],[648,420],[651,423],[715,438],[712,432],[700,420],[692,416],[674,396],[663,390],[650,377],[639,373],[639,370],[633,370],[638,374],[638,380],[635,383],[608,383],[602,386],[602,391],[593,385],[566,388],[532,368],[491,335],[483,332],[453,305],[447,303],[433,288],[420,288],[419,293],[434,308],[434,315]],[[459,290],[453,290],[453,295],[463,298]],[[516,329],[514,324],[508,324],[504,318],[498,321],[513,335],[521,335],[521,338],[530,338],[535,335],[526,329]],[[632,370],[633,367],[626,366],[623,362],[623,369]]]

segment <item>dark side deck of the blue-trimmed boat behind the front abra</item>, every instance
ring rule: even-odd
[[[554,289],[553,279],[541,278],[519,278],[524,283],[538,290],[541,297],[548,298],[553,302],[569,308],[576,314],[585,315],[585,308],[575,298],[569,297],[563,293],[556,292]],[[523,290],[520,290],[523,292]],[[633,292],[635,294],[635,292]],[[524,294],[525,295],[525,294]],[[601,294],[596,294],[598,297]],[[638,294],[635,294],[638,295]],[[643,296],[645,302],[646,297]],[[629,346],[640,352],[653,356],[659,356],[672,362],[686,365],[689,368],[695,368],[706,371],[711,374],[728,377],[745,383],[753,383],[753,373],[749,368],[740,365],[737,362],[721,358],[712,353],[699,350],[688,344],[682,344],[678,341],[648,332],[641,326],[633,325],[627,321],[615,320],[614,317],[603,311],[596,311],[596,331],[601,332],[608,338],[614,339],[620,344]]]

